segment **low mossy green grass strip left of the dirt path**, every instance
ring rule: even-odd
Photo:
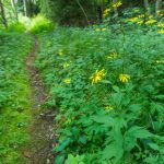
[[[0,33],[0,163],[22,163],[20,148],[30,139],[31,89],[24,61],[32,47],[31,37]]]

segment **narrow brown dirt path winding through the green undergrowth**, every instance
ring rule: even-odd
[[[32,89],[32,117],[30,128],[31,142],[23,151],[26,164],[54,164],[54,116],[51,110],[43,109],[47,94],[43,81],[35,68],[35,55],[38,50],[38,39],[34,38],[35,45],[26,59],[26,68],[30,74]]]

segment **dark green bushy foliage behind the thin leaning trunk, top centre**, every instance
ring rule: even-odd
[[[89,21],[95,21],[96,8],[93,1],[80,0],[80,3]],[[77,0],[43,0],[40,3],[42,12],[60,25],[86,25],[87,21],[81,7]]]

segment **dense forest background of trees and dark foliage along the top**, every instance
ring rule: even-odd
[[[43,13],[54,23],[60,25],[84,26],[103,22],[106,8],[119,3],[118,0],[0,0],[0,22],[5,27],[20,15],[32,17]],[[162,12],[162,0],[124,0],[124,4],[115,7],[110,12],[113,17],[130,13],[130,9],[140,8],[142,12],[156,15]]]

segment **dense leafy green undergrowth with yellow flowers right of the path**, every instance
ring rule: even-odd
[[[56,164],[163,163],[164,35],[157,31],[115,25],[39,36],[36,66],[49,89],[46,105],[58,112]]]

